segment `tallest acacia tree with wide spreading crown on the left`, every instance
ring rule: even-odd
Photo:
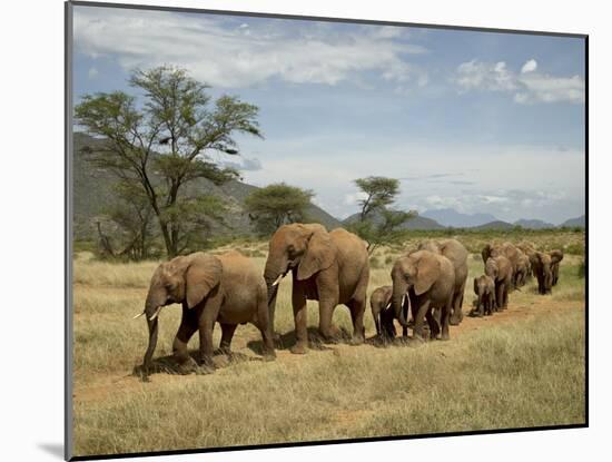
[[[185,185],[237,176],[210,154],[236,155],[237,134],[261,137],[258,108],[231,96],[213,102],[206,85],[171,66],[136,70],[129,83],[142,94],[141,104],[124,91],[86,95],[75,108],[76,120],[106,140],[93,164],[141,188],[172,257],[189,245],[200,215],[219,210],[218,201],[187,196]]]

